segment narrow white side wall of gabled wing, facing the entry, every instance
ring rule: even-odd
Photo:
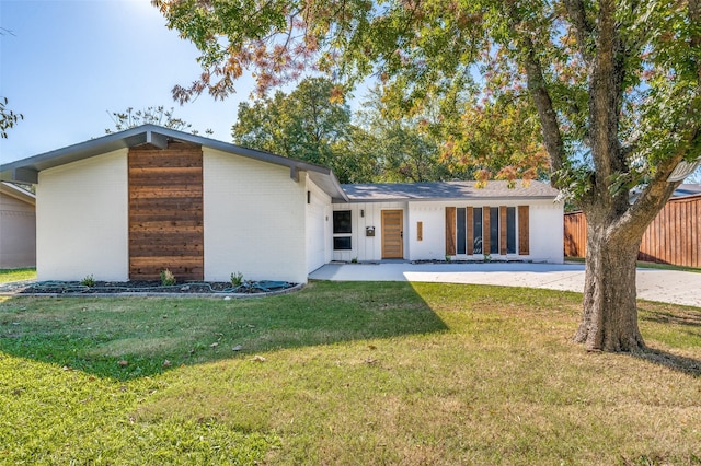
[[[307,272],[311,273],[319,267],[331,261],[332,244],[332,213],[331,196],[319,188],[307,176]]]

